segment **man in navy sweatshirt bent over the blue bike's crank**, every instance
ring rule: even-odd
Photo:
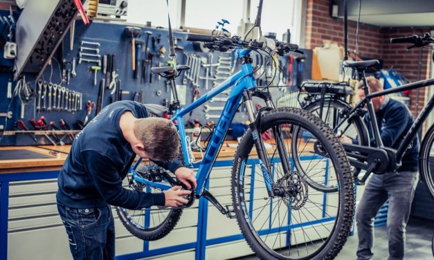
[[[188,187],[196,186],[179,154],[176,127],[164,118],[147,118],[143,104],[114,102],[75,137],[60,170],[57,210],[68,234],[74,259],[114,259],[114,219],[110,205],[136,210],[152,205],[177,207],[190,194],[180,186],[160,194],[134,192],[122,186],[136,154],[169,169]]]

